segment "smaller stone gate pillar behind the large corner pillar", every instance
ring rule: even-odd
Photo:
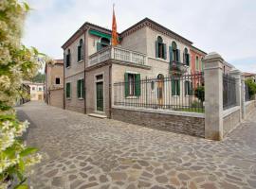
[[[232,69],[229,72],[230,77],[235,78],[235,89],[236,89],[236,103],[237,106],[240,106],[240,121],[242,120],[242,82],[241,82],[242,73],[237,69]]]

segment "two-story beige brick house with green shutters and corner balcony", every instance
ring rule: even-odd
[[[192,73],[192,52],[200,62],[206,54],[148,18],[119,33],[118,46],[111,45],[111,30],[85,23],[62,47],[64,109],[107,117],[114,105],[147,103],[157,108],[168,100],[177,104],[181,95],[189,98],[192,81],[175,76]],[[155,80],[142,87],[148,78]]]

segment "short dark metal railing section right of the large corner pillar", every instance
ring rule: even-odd
[[[223,75],[223,109],[227,110],[237,105],[235,78]]]

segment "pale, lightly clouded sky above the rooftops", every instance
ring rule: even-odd
[[[255,0],[27,0],[23,43],[53,59],[85,22],[111,29],[112,6],[121,32],[148,17],[192,41],[205,52],[217,52],[244,72],[256,73]]]

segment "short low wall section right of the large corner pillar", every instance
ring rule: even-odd
[[[227,111],[231,111],[231,112],[226,116],[224,116],[223,118],[223,135],[224,136],[227,135],[231,130],[235,129],[241,122],[240,107],[234,107]]]

